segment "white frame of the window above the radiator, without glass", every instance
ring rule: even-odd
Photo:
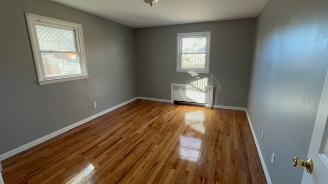
[[[190,72],[209,74],[210,73],[210,53],[211,53],[211,31],[193,32],[193,33],[178,33],[177,34],[177,55],[176,55],[176,72]],[[182,38],[197,38],[206,37],[206,54],[205,68],[182,68],[181,54],[182,54]]]

